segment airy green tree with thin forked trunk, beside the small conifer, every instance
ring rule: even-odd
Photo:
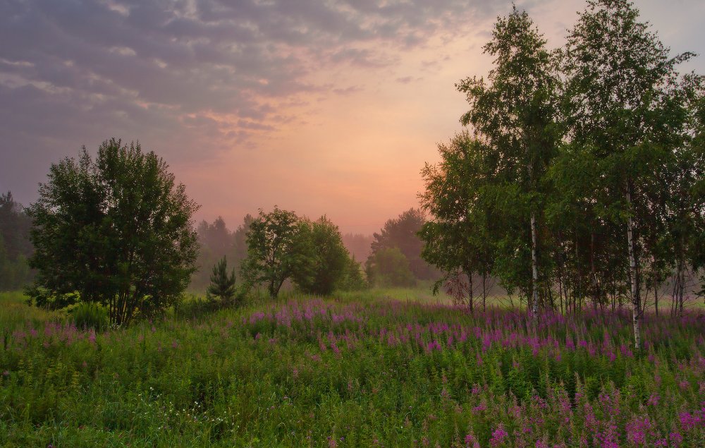
[[[247,284],[266,284],[274,298],[286,279],[312,281],[315,254],[308,233],[308,224],[294,212],[276,206],[269,213],[260,209],[247,232],[247,258],[241,268]]]

